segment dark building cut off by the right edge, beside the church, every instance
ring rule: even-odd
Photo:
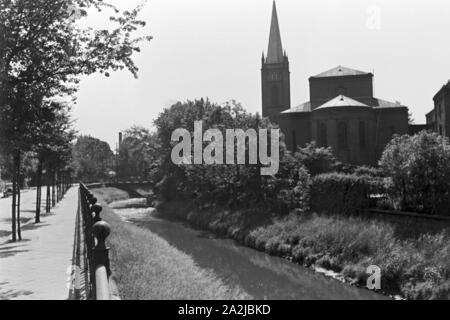
[[[433,131],[450,138],[450,80],[433,98],[434,109],[427,114],[427,124]]]

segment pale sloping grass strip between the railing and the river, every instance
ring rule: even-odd
[[[104,204],[102,217],[111,224],[108,238],[111,264],[122,299],[248,299],[230,288],[213,272],[199,268],[193,259],[146,229],[124,222],[106,203],[128,194],[114,188],[94,190]]]

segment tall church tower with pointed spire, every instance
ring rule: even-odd
[[[278,122],[278,115],[291,108],[291,83],[289,59],[286,52],[283,52],[281,44],[275,1],[273,2],[267,57],[264,57],[264,52],[262,55],[261,83],[263,117]]]

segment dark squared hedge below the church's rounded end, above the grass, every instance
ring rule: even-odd
[[[383,181],[369,176],[331,173],[316,176],[311,184],[312,211],[355,215],[369,208],[372,194],[383,193]]]

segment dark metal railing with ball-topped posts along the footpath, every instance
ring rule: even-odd
[[[81,224],[84,238],[84,259],[86,268],[86,293],[88,299],[111,300],[109,248],[106,238],[111,232],[108,223],[102,221],[102,206],[80,183],[79,189]]]

